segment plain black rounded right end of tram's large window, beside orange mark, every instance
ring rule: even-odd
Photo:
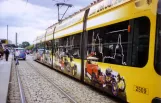
[[[148,61],[150,21],[147,17],[134,20],[132,66],[143,67]]]

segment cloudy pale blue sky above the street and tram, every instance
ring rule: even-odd
[[[28,1],[28,2],[27,2]],[[73,7],[65,17],[90,5],[93,0],[0,0],[0,39],[8,38],[15,43],[18,34],[18,44],[33,40],[45,34],[45,29],[58,21],[56,3],[65,2]],[[63,14],[66,7],[60,9]]]

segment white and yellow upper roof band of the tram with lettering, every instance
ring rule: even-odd
[[[54,27],[56,26],[56,32],[63,30],[64,28],[67,28],[75,23],[78,23],[80,21],[83,20],[83,16],[85,13],[85,10],[90,8],[90,12],[88,14],[88,18],[99,13],[100,11],[104,10],[104,9],[108,9],[108,8],[115,8],[119,5],[122,5],[128,1],[131,0],[97,0],[94,1],[93,3],[91,3],[90,5],[88,5],[87,7],[80,9],[79,11],[73,13],[72,15],[68,16],[67,18],[61,20],[60,22],[57,22],[51,26],[49,26],[46,31],[47,33],[44,33],[43,35],[40,35],[36,38],[37,40],[43,39],[45,37],[45,35],[47,34],[51,34],[52,31],[54,30]],[[81,16],[80,16],[81,14]],[[77,17],[78,18],[77,18]],[[75,20],[76,19],[76,20]],[[75,21],[74,21],[75,20]],[[72,22],[72,23],[71,23]],[[50,33],[48,33],[50,32]]]

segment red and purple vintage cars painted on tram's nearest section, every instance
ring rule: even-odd
[[[96,57],[87,57],[85,63],[85,81],[114,96],[126,99],[126,83],[124,77],[109,67],[104,72],[101,71],[97,61],[98,58]]]

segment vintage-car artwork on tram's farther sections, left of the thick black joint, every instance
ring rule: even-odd
[[[80,79],[80,61],[77,60],[77,62],[75,62],[74,60],[76,59],[74,59],[73,56],[69,57],[68,55],[60,54],[61,53],[55,53],[55,55],[53,55],[53,68]],[[52,65],[52,55],[48,52],[43,54],[43,50],[38,50],[36,60]]]

